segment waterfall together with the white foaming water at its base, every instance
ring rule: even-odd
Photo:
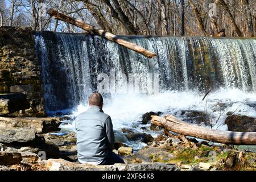
[[[122,38],[156,52],[158,57],[147,59],[98,36],[53,32],[35,35],[49,115],[62,111],[75,118],[86,110],[89,94],[102,81],[97,76],[114,71],[125,77],[114,82],[118,93],[104,94],[104,111],[112,117],[117,135],[122,127],[144,132],[139,121],[148,111],[163,111],[181,119],[183,111],[205,111],[213,128],[223,130],[228,111],[256,117],[256,39]],[[142,91],[152,85],[148,73],[159,75],[159,93],[127,93],[125,88],[120,89],[117,85],[122,79],[129,80],[131,73],[137,74],[135,80]],[[72,130],[72,122],[67,123],[63,129]]]

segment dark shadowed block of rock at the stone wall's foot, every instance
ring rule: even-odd
[[[0,94],[0,115],[14,113],[15,111],[30,108],[26,94],[7,93]]]

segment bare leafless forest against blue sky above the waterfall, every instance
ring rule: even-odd
[[[0,26],[81,32],[51,18],[55,9],[118,35],[229,36],[256,34],[254,0],[1,0]]]

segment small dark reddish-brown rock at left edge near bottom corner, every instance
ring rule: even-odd
[[[22,161],[20,153],[0,152],[0,165],[10,166]]]

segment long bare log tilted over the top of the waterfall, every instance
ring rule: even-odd
[[[75,18],[72,18],[68,15],[65,15],[65,14],[62,14],[62,13],[59,13],[58,11],[56,10],[53,10],[53,9],[49,9],[47,11],[47,13],[50,15],[50,16],[53,16],[54,18],[56,19],[59,19],[59,20],[62,20],[63,22],[67,22],[67,23],[70,23],[70,24],[73,24],[77,27],[80,27],[82,29],[84,29],[85,31],[88,31],[88,32],[92,32],[93,34],[96,34],[96,35],[99,35],[99,36],[102,36],[104,37],[105,39],[108,39],[114,43],[117,43],[123,47],[126,47],[126,48],[129,48],[133,51],[136,51],[138,53],[141,53],[142,55],[144,56],[147,56],[149,58],[152,58],[152,57],[156,57],[157,54],[154,53],[154,52],[151,52],[151,51],[148,51],[147,49],[144,49],[143,47],[141,46],[138,46],[137,44],[134,44],[134,43],[130,43],[130,42],[127,42],[126,40],[123,40],[121,38],[118,38],[118,36],[114,35],[114,34],[111,34],[109,32],[106,32],[104,30],[101,30],[99,28],[96,28],[96,27],[93,27],[91,26],[90,24],[87,24],[85,22],[82,22],[81,20],[79,19],[75,19]]]

